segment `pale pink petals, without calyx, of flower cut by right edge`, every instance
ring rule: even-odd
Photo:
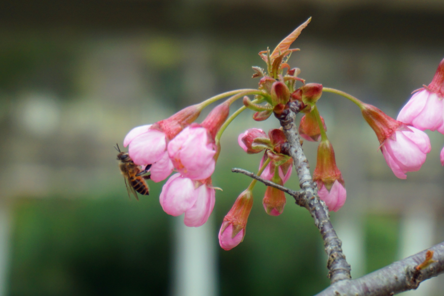
[[[437,93],[423,89],[413,94],[398,114],[398,121],[412,125],[419,130],[443,130],[443,98]]]

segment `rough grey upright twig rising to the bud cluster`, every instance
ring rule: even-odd
[[[314,184],[310,174],[310,167],[307,158],[300,146],[300,138],[296,127],[296,113],[300,111],[300,102],[289,102],[286,109],[281,114],[275,114],[283,127],[287,137],[288,152],[293,157],[297,176],[299,177],[300,188],[304,191],[306,208],[310,211],[316,227],[321,232],[324,240],[324,248],[329,259],[327,268],[331,283],[350,279],[350,264],[342,253],[342,242],[336,235],[327,206],[320,200],[317,193],[317,186]]]

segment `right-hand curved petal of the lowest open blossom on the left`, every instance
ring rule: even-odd
[[[194,205],[185,211],[185,225],[188,227],[199,227],[207,222],[211,212],[213,212],[216,201],[215,190],[201,185],[194,190],[197,199]]]

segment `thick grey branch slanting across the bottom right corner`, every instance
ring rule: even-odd
[[[427,251],[433,251],[434,262],[424,269],[416,268],[426,259]],[[392,296],[416,289],[422,281],[443,272],[444,242],[361,278],[337,282],[316,296]]]

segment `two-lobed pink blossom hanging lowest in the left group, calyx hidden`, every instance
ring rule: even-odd
[[[207,222],[215,204],[215,190],[208,183],[211,184],[211,179],[199,184],[175,174],[162,187],[160,205],[165,213],[172,216],[185,213],[185,225],[198,227]]]

